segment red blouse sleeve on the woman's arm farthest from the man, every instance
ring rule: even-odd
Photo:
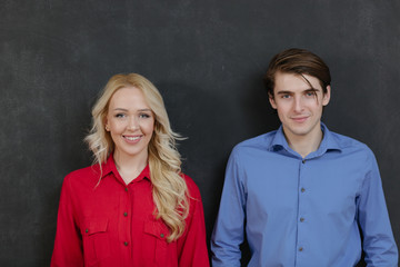
[[[83,266],[82,239],[73,216],[69,178],[66,177],[61,189],[51,267]]]

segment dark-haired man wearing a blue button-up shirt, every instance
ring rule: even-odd
[[[278,53],[264,83],[281,127],[234,147],[211,249],[213,267],[394,267],[393,239],[372,151],[321,122],[330,72],[302,49]]]

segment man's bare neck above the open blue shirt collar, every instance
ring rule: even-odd
[[[323,132],[320,127],[308,135],[293,135],[291,132],[284,132],[284,137],[289,144],[289,147],[300,154],[302,158],[306,158],[310,152],[316,151],[323,138]]]

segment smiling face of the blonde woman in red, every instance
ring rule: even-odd
[[[126,87],[114,92],[109,103],[106,130],[114,142],[114,158],[148,159],[148,146],[154,131],[154,115],[141,90]]]

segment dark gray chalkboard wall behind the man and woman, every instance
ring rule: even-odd
[[[323,121],[378,158],[400,241],[400,1],[1,0],[0,266],[48,266],[63,177],[90,165],[82,142],[98,91],[139,72],[164,97],[208,238],[239,141],[276,129],[261,77],[300,47],[330,66]]]

